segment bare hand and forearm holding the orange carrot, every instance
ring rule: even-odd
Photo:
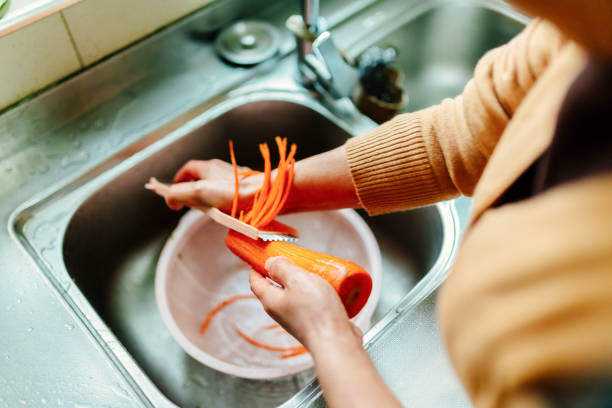
[[[251,289],[266,312],[312,354],[327,406],[401,407],[376,372],[359,329],[331,285],[284,257],[268,259],[266,270],[283,287],[252,271]]]

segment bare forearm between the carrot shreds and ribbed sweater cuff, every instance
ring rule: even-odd
[[[295,178],[284,212],[359,208],[344,146],[295,164]]]

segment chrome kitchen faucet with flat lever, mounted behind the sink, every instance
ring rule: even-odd
[[[297,41],[298,69],[306,85],[322,88],[336,99],[350,97],[359,83],[359,72],[340,53],[325,20],[319,0],[299,0],[302,15],[287,20]]]

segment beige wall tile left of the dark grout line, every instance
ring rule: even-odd
[[[57,13],[0,38],[0,61],[0,109],[81,68]]]

